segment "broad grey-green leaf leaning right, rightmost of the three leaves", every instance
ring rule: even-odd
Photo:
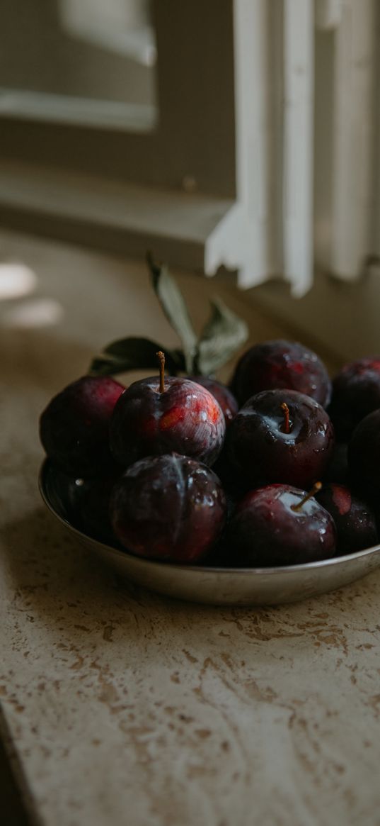
[[[248,338],[246,322],[235,315],[221,298],[210,301],[212,313],[198,343],[198,370],[206,376],[218,368],[242,347]]]

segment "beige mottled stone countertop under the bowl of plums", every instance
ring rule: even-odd
[[[265,610],[176,603],[116,580],[42,505],[36,422],[97,346],[141,333],[142,314],[152,337],[164,322],[142,268],[2,243],[39,279],[33,296],[0,302],[0,697],[35,822],[380,823],[380,572]],[[200,300],[210,287],[197,284]],[[15,322],[47,297],[62,307],[54,325]],[[284,335],[249,316],[257,339]]]

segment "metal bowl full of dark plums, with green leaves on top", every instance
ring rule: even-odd
[[[152,286],[182,349],[129,337],[40,416],[46,506],[121,577],[213,605],[275,605],[380,565],[380,357],[332,380],[312,350],[246,349],[220,299],[200,336],[167,268]],[[117,374],[149,372],[121,382]]]

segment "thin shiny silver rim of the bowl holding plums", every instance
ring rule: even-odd
[[[45,458],[43,463],[40,466],[40,471],[38,475],[38,487],[40,491],[40,496],[42,500],[45,502],[45,506],[48,508],[50,513],[52,513],[56,519],[64,525],[65,528],[70,529],[73,534],[77,536],[78,539],[84,539],[87,542],[91,542],[96,544],[99,548],[102,548],[103,551],[108,553],[114,553],[121,558],[125,556],[133,559],[135,562],[143,563],[146,567],[150,567],[152,570],[157,568],[165,567],[167,570],[173,571],[181,571],[186,573],[191,572],[204,572],[204,573],[218,573],[222,576],[231,576],[231,574],[242,574],[245,577],[247,575],[265,575],[266,577],[270,576],[277,576],[279,573],[282,574],[292,574],[295,572],[308,572],[308,571],[316,571],[320,570],[321,568],[335,566],[338,567],[340,564],[344,564],[346,562],[354,562],[355,559],[361,559],[364,557],[372,556],[375,553],[380,551],[380,544],[373,545],[372,548],[364,548],[363,551],[356,551],[355,553],[346,553],[345,555],[339,557],[329,557],[327,559],[320,559],[317,562],[313,563],[303,563],[301,565],[282,565],[278,567],[218,567],[216,565],[207,566],[207,565],[176,565],[175,563],[167,563],[167,562],[159,562],[156,559],[148,559],[139,557],[137,554],[130,553],[127,548],[125,550],[120,550],[119,548],[113,548],[112,545],[107,545],[104,542],[100,542],[99,539],[94,539],[94,537],[89,536],[88,534],[83,534],[83,532],[74,527],[67,519],[65,519],[62,515],[55,510],[54,506],[52,505],[51,501],[49,500],[49,496],[45,491],[45,473],[47,468],[52,467],[54,468],[54,464],[51,462],[49,458]]]

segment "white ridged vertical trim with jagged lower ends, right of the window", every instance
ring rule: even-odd
[[[377,0],[236,0],[242,286],[315,264],[353,281],[380,254]]]

